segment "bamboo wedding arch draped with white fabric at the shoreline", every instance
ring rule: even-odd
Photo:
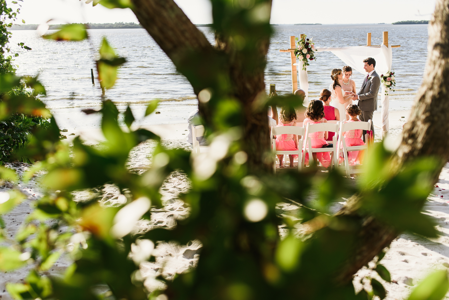
[[[299,35],[302,39],[304,34]],[[299,71],[299,86],[306,93],[304,104],[308,103],[308,75],[307,66],[303,70],[304,62],[299,60],[296,62],[295,48],[296,48],[295,36],[290,36],[290,48],[280,49],[279,52],[290,52],[291,55],[291,85],[292,93],[298,89],[298,71]],[[365,46],[352,46],[352,47],[315,47],[315,51],[330,51],[339,57],[345,64],[351,66],[352,69],[366,74],[363,69],[362,60],[367,57],[373,57],[376,60],[376,71],[378,74],[384,74],[387,71],[391,71],[392,68],[392,48],[399,48],[401,45],[389,45],[388,44],[388,31],[383,31],[383,41],[380,45],[371,45],[371,33],[367,34],[367,40]],[[297,69],[297,66],[300,69]],[[386,88],[381,84],[381,126],[374,125],[381,129],[382,137],[384,137],[389,128],[388,122],[388,107],[389,107],[389,95],[385,95]]]

